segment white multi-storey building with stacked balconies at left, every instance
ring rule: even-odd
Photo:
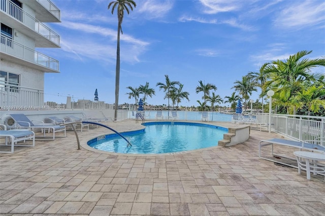
[[[42,106],[44,74],[59,73],[59,62],[35,48],[60,47],[44,24],[60,22],[60,11],[49,0],[0,0],[0,7],[0,105]]]

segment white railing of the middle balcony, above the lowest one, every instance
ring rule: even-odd
[[[52,31],[49,27],[30,16],[27,12],[17,7],[11,1],[1,1],[1,10],[10,15],[11,17],[22,22],[25,26],[41,34],[56,45],[60,45],[60,36]]]

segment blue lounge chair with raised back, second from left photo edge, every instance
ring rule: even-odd
[[[30,121],[25,114],[8,114],[11,118],[15,121],[14,127],[17,129],[28,128],[29,130],[36,130],[41,129],[43,136],[36,136],[38,140],[54,140],[55,133],[63,132],[64,136],[57,136],[57,137],[66,137],[66,127],[60,125],[54,125],[51,123],[44,123],[43,121],[32,120]],[[33,122],[39,122],[38,124],[34,124]],[[53,135],[46,136],[46,130],[52,132]]]

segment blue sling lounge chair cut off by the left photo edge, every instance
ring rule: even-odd
[[[0,153],[14,153],[14,147],[22,146],[22,147],[34,147],[35,146],[35,133],[33,131],[27,129],[14,129],[14,130],[7,130],[6,125],[1,124],[4,127],[4,130],[0,130],[0,137],[5,137],[5,145],[10,148],[10,151],[0,151]],[[8,139],[11,139],[11,145],[8,145]],[[19,141],[25,142],[26,140],[32,140],[31,145],[18,145]]]

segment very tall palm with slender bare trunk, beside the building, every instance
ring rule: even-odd
[[[117,120],[118,110],[118,95],[120,85],[120,32],[122,31],[122,21],[124,16],[124,10],[129,14],[129,9],[133,11],[133,7],[137,7],[137,4],[133,0],[116,0],[108,5],[108,9],[112,6],[112,14],[114,9],[117,8],[117,49],[116,49],[116,75],[115,75],[115,106],[114,106],[114,121]],[[128,9],[129,8],[129,9]]]

